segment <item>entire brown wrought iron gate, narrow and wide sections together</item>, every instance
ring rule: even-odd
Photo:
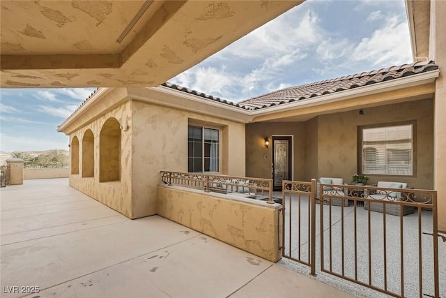
[[[284,181],[283,190],[284,258],[393,297],[444,297],[436,191],[314,179]]]

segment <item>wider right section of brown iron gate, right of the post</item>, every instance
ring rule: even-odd
[[[318,193],[322,271],[394,297],[439,297],[436,191],[320,184]]]

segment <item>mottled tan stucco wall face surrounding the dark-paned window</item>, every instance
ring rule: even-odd
[[[187,172],[189,123],[220,128],[222,174],[245,176],[245,124],[132,100],[132,209],[135,218],[157,213],[160,171]]]

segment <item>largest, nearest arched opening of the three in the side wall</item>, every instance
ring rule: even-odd
[[[121,179],[121,128],[118,120],[107,119],[99,135],[99,181]]]

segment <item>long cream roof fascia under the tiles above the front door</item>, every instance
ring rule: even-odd
[[[272,114],[276,112],[282,112],[283,110],[292,110],[298,107],[309,107],[313,105],[321,105],[325,103],[335,102],[339,100],[345,100],[357,96],[367,96],[369,94],[376,94],[385,91],[392,91],[401,89],[406,86],[417,86],[433,82],[440,74],[440,70],[431,70],[426,73],[419,73],[417,75],[410,75],[408,77],[400,77],[386,82],[380,82],[371,84],[365,87],[359,87],[354,89],[348,89],[344,91],[334,92],[332,94],[325,94],[322,96],[316,96],[314,98],[308,98],[305,100],[293,101],[292,103],[284,103],[282,105],[275,105],[272,107],[263,107],[259,110],[251,112],[252,116],[259,117],[262,115]]]

